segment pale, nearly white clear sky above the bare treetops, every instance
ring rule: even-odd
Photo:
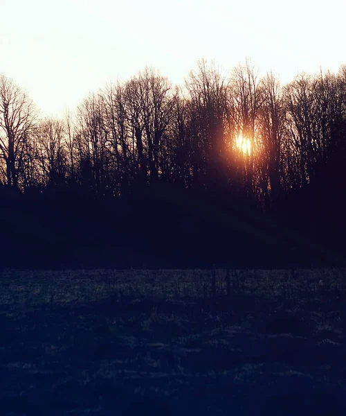
[[[345,16],[346,0],[0,0],[0,73],[48,116],[145,66],[182,85],[200,58],[286,83],[346,64]]]

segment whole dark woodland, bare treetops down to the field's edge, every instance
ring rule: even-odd
[[[0,266],[345,266],[345,161],[345,65],[145,69],[64,119],[0,76]]]

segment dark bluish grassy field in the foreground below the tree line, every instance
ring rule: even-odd
[[[346,270],[3,270],[0,415],[346,415]]]

